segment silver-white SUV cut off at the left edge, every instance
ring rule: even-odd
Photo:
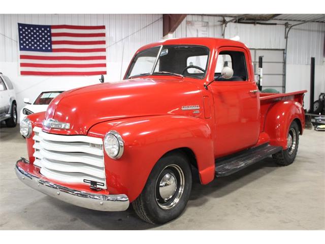
[[[3,120],[7,127],[17,125],[17,102],[13,84],[0,72],[0,122]]]

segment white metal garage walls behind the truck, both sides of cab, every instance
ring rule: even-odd
[[[221,18],[217,16],[188,15],[176,29],[173,37],[186,37],[186,20],[208,21],[208,35],[221,37]],[[142,45],[156,42],[163,36],[161,14],[10,14],[0,15],[0,71],[12,79],[17,91],[18,109],[24,97],[34,99],[42,90],[71,89],[98,83],[99,76],[20,76],[18,72],[17,22],[34,24],[105,25],[107,41],[106,81],[116,81],[124,75],[134,52]],[[225,37],[240,36],[249,48],[284,49],[284,22],[277,25],[229,23]],[[289,21],[290,23],[296,23]],[[310,57],[316,57],[315,98],[325,90],[325,63],[323,58],[325,24],[308,23],[291,29],[288,39],[286,91],[307,89],[310,82]],[[124,47],[124,51],[123,51]],[[122,61],[123,54],[123,62]],[[309,93],[305,97],[309,108]]]

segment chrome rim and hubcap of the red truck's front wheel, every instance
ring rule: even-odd
[[[174,208],[181,199],[184,188],[183,170],[176,164],[166,166],[156,181],[155,199],[158,206],[164,210]]]

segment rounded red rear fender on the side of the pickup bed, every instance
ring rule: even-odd
[[[303,106],[295,101],[278,101],[268,111],[265,118],[264,131],[270,136],[270,144],[286,149],[287,134],[290,124],[298,119],[300,134],[305,128],[305,112]]]

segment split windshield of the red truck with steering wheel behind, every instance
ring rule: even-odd
[[[202,79],[206,74],[209,49],[203,46],[159,46],[139,52],[126,78],[144,75],[177,75]]]

